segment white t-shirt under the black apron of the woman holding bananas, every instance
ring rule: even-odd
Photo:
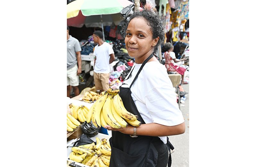
[[[130,87],[141,65],[134,63],[132,75],[128,79],[129,72],[121,87]],[[166,67],[159,62],[151,61],[144,65],[131,87],[131,92],[132,99],[146,124],[174,126],[184,122]],[[167,143],[165,136],[159,138]]]

